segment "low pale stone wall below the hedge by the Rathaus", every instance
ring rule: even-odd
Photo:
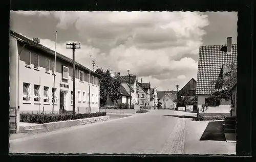
[[[43,124],[43,127],[46,127],[47,130],[49,131],[49,130],[60,129],[60,128],[65,128],[65,127],[106,121],[109,118],[110,118],[110,116],[101,116],[101,117],[84,118],[84,119],[77,119],[77,120],[58,121],[58,122],[45,123],[45,124]]]

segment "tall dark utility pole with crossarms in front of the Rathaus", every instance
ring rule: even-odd
[[[75,89],[75,49],[80,48],[80,41],[69,42],[67,43],[67,49],[73,50],[73,114],[76,114],[76,89]]]

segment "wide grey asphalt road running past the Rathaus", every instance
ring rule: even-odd
[[[21,142],[10,141],[11,153],[161,153],[178,118],[174,111],[147,114],[68,128]]]

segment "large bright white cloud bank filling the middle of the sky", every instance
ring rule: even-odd
[[[209,25],[207,15],[198,12],[16,13],[54,17],[58,29],[72,28],[72,32],[78,34],[81,49],[76,50],[77,62],[92,68],[90,53],[96,67],[110,68],[123,75],[129,69],[157,89],[170,88],[168,85],[188,77],[185,72],[196,74],[198,62],[192,57],[198,55],[206,34],[203,29]],[[71,58],[72,51],[66,49],[66,41],[58,41],[57,51]],[[54,40],[42,39],[41,43],[54,49]]]

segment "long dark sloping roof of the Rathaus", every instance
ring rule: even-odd
[[[55,51],[50,49],[50,48],[48,48],[48,47],[46,47],[46,46],[44,46],[44,45],[42,45],[42,44],[39,44],[39,43],[29,39],[29,38],[26,38],[26,37],[24,37],[24,36],[22,36],[22,35],[20,35],[20,34],[18,34],[16,32],[11,31],[11,30],[10,30],[10,35],[12,35],[14,37],[17,37],[18,40],[20,39],[23,43],[26,43],[27,45],[30,45],[30,46],[35,47],[37,49],[40,49],[40,50],[42,50],[44,52],[47,52],[50,55],[54,56]],[[64,55],[61,55],[58,52],[56,52],[56,58],[59,58],[59,59],[61,59],[63,61],[67,61],[67,62],[73,64],[73,60],[72,59],[70,59],[70,58],[68,58],[68,57],[66,57]],[[83,66],[83,65],[81,65],[81,64],[79,64],[77,62],[75,62],[75,64],[76,64],[76,66],[80,67],[83,70],[86,70],[88,72],[90,71],[90,69],[88,69],[87,67],[85,67],[85,66]],[[94,75],[96,75],[98,77],[102,77],[101,75],[99,75],[98,73],[96,73],[96,72],[94,72],[92,70],[91,70],[91,74],[94,74]]]

